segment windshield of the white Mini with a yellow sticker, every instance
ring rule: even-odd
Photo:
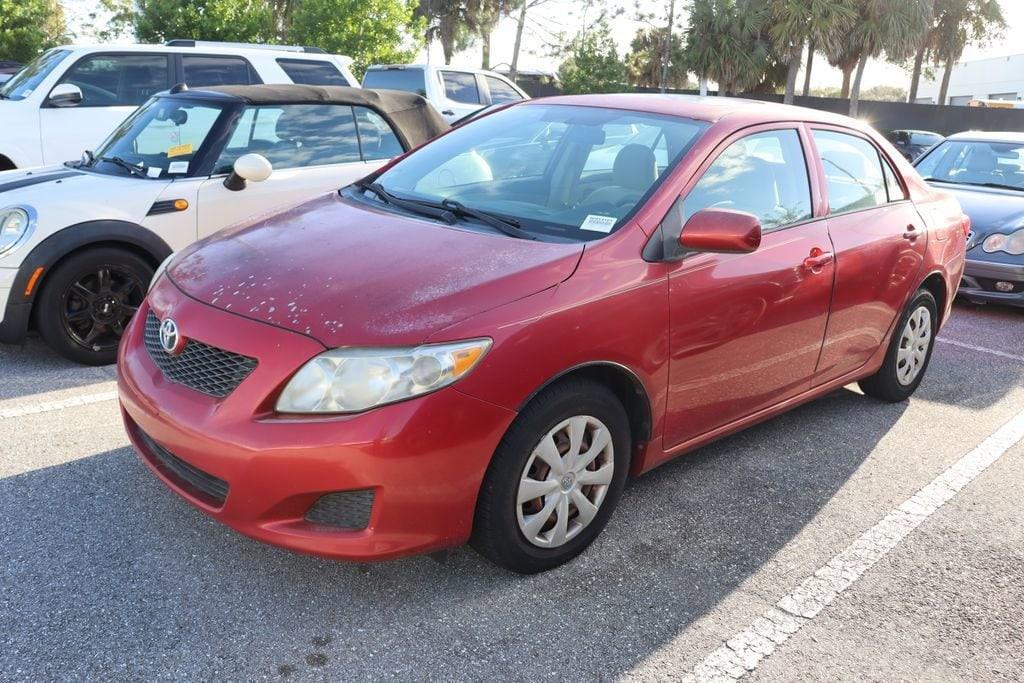
[[[116,175],[150,178],[188,175],[203,143],[216,127],[223,106],[184,98],[151,99],[129,117],[96,151],[93,168]],[[141,174],[115,160],[137,167]]]

